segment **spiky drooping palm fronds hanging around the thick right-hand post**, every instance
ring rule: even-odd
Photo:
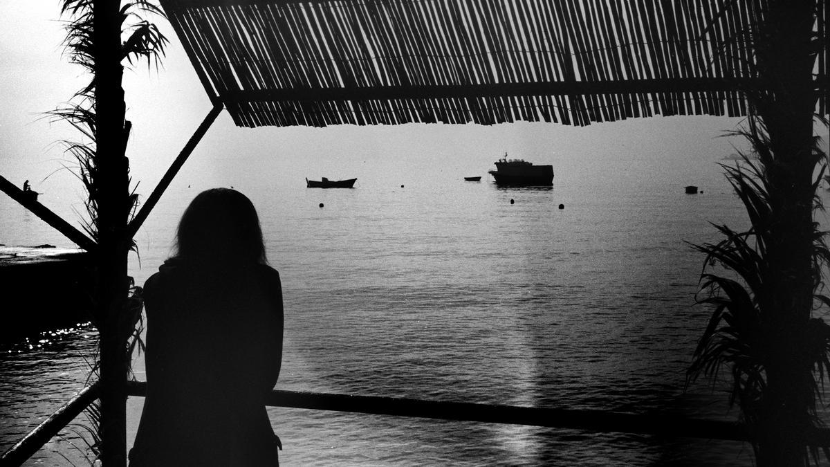
[[[771,167],[779,164],[774,146],[764,120],[750,115],[739,130],[729,132],[749,141],[751,154],[740,154],[740,161],[734,166],[721,165],[735,194],[744,204],[749,219],[749,229],[735,231],[726,225],[712,224],[721,240],[716,243],[691,244],[692,248],[706,255],[701,272],[700,292],[697,302],[714,307],[686,372],[686,385],[701,376],[713,383],[725,376],[729,370],[730,406],[740,408],[740,418],[749,423],[764,420],[765,398],[767,395],[767,371],[776,356],[770,347],[775,342],[779,329],[776,328],[775,313],[779,305],[774,300],[778,293],[770,284],[781,272],[770,262],[769,247],[774,243],[773,232],[779,223],[775,212],[775,197],[780,196],[781,187],[769,175]],[[813,160],[826,160],[818,149],[818,138],[813,139]],[[818,176],[812,183],[815,190],[825,179],[826,165],[818,166]],[[821,208],[819,202],[814,204]],[[830,248],[827,233],[813,223],[813,309],[830,308],[830,297],[823,295],[823,271],[830,265]],[[715,273],[711,268],[721,267],[726,273]],[[796,329],[801,339],[798,342],[798,362],[804,365],[812,377],[806,377],[805,389],[813,394],[806,402],[805,409],[810,420],[821,424],[816,410],[816,401],[821,401],[825,378],[830,377],[830,326],[821,318],[812,317]],[[759,445],[754,443],[756,455]],[[804,448],[818,463],[818,449]],[[805,456],[805,461],[809,457]]]

